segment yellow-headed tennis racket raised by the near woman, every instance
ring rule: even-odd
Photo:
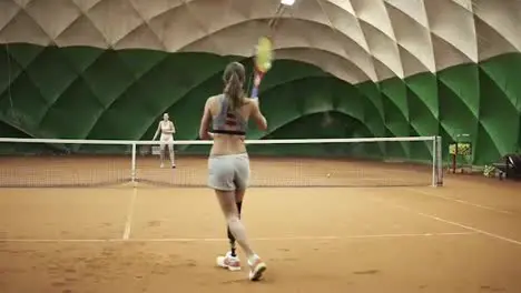
[[[260,37],[257,47],[255,48],[255,65],[254,65],[254,83],[252,90],[252,98],[258,98],[258,87],[263,81],[266,72],[272,68],[273,62],[273,42],[268,37]]]

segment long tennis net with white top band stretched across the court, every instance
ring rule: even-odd
[[[0,138],[0,188],[206,186],[212,141]],[[443,183],[440,137],[246,140],[250,186],[407,186]]]

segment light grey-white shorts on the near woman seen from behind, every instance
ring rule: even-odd
[[[215,155],[208,159],[208,186],[215,190],[245,190],[249,181],[248,154]]]

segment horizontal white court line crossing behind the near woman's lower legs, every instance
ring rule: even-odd
[[[432,236],[462,236],[475,235],[475,232],[445,232],[445,233],[402,233],[402,234],[368,234],[350,236],[283,236],[283,238],[254,238],[252,241],[321,241],[321,240],[353,240],[353,239],[404,239]],[[228,239],[217,238],[166,238],[166,239],[0,239],[0,243],[99,243],[99,242],[226,242]]]

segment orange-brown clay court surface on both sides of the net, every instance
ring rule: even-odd
[[[0,160],[1,180],[128,179],[117,160]],[[215,267],[227,241],[212,191],[154,184],[204,184],[205,161],[139,164],[138,188],[0,189],[0,292],[521,292],[519,184],[448,175],[435,189],[412,166],[253,161],[260,188],[243,219],[268,271],[250,283]],[[400,181],[415,184],[386,186]]]

